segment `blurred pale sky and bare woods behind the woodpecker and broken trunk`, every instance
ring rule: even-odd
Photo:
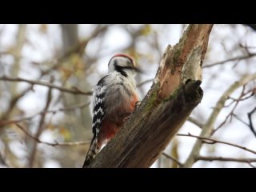
[[[174,46],[186,26],[0,25],[0,167],[81,167],[92,138],[90,91],[107,74],[110,58],[134,57],[144,71],[136,77],[143,98],[166,46]],[[255,56],[256,31],[250,26],[214,25],[203,62],[204,96],[191,114],[195,122],[205,123],[225,90],[256,72]],[[256,107],[255,87],[252,81],[231,95],[212,138],[256,150],[247,115]],[[251,121],[256,127],[256,112]],[[198,135],[197,124],[187,121],[178,133]],[[176,136],[165,153],[185,162],[195,140]],[[219,143],[204,144],[200,154],[255,160],[255,154]],[[255,161],[208,159],[193,167],[251,167]],[[152,167],[178,165],[161,155]]]

